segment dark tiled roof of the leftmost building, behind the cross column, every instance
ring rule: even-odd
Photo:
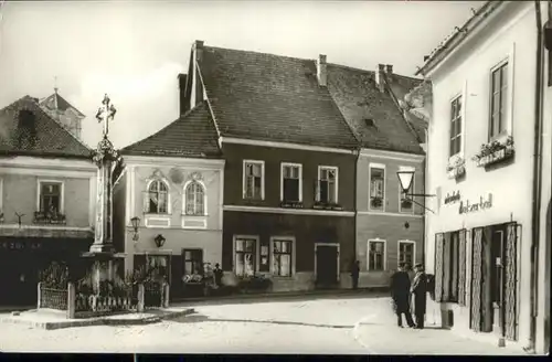
[[[32,116],[18,117],[21,110]],[[0,153],[89,158],[91,149],[24,96],[0,110]]]

